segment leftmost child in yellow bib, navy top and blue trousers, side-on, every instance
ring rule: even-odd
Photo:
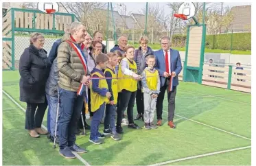
[[[91,135],[89,141],[100,144],[104,139],[104,134],[99,132],[100,120],[104,115],[106,103],[108,103],[111,93],[108,91],[108,84],[104,77],[103,69],[108,65],[108,57],[105,54],[99,54],[96,58],[96,67],[91,71]]]

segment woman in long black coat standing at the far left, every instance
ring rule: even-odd
[[[45,84],[50,70],[47,51],[43,49],[44,44],[43,34],[32,33],[30,47],[24,50],[19,61],[20,100],[27,103],[25,129],[35,138],[39,137],[38,134],[47,134],[47,131],[41,128],[47,108]]]

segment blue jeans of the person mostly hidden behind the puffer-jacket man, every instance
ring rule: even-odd
[[[55,134],[55,126],[56,126],[56,115],[58,108],[58,97],[46,95],[48,101],[48,115],[47,115],[47,128],[49,124],[48,132],[51,134],[51,137],[54,137]],[[60,112],[58,114],[58,118],[60,118]],[[49,119],[48,119],[49,116]],[[58,125],[58,124],[57,124]],[[56,135],[58,135],[58,127]]]

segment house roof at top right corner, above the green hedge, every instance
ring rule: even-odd
[[[240,5],[231,8],[233,22],[230,30],[233,32],[251,32],[251,5]]]

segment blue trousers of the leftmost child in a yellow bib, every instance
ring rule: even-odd
[[[98,110],[93,112],[93,117],[91,119],[91,135],[90,139],[97,140],[99,139],[99,126],[100,121],[102,120],[102,117],[104,115],[104,109],[105,109],[105,103],[100,106]]]

